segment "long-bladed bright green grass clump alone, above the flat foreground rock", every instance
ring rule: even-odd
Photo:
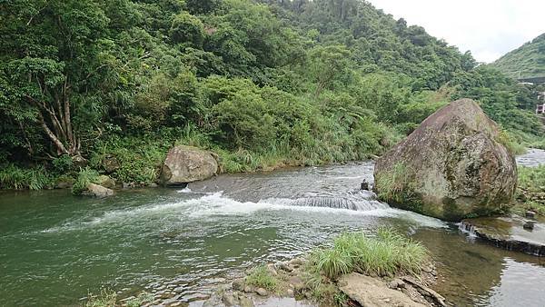
[[[381,228],[376,236],[344,233],[333,247],[312,253],[311,262],[317,272],[336,279],[348,272],[393,276],[397,273],[419,274],[428,259],[421,245],[390,228]]]

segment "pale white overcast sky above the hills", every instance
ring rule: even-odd
[[[545,0],[368,1],[461,52],[470,50],[478,62],[493,62],[545,33]]]

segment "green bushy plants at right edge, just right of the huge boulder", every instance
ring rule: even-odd
[[[519,167],[517,200],[515,212],[531,210],[545,216],[545,165]]]

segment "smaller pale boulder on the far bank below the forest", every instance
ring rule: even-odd
[[[208,179],[217,171],[214,153],[190,146],[174,146],[166,154],[161,182],[165,185],[183,185]]]

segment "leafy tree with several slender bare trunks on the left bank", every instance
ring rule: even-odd
[[[81,94],[102,81],[97,73],[108,18],[90,1],[18,0],[2,6],[0,31],[9,42],[0,49],[0,71],[9,76],[5,114],[24,130],[37,124],[57,154],[81,159],[74,103],[83,104]]]

